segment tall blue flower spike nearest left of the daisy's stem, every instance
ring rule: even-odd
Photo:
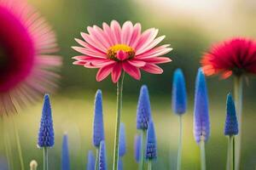
[[[104,140],[104,124],[102,115],[102,91],[97,90],[94,103],[94,122],[93,122],[93,144],[100,147]]]

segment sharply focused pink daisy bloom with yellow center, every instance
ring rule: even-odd
[[[81,54],[73,57],[74,65],[87,68],[99,68],[96,75],[98,82],[111,73],[112,81],[118,82],[124,70],[131,77],[139,80],[141,70],[153,74],[161,74],[163,70],[156,64],[172,61],[167,57],[159,57],[172,50],[169,45],[158,45],[165,36],[157,37],[158,30],[151,28],[142,32],[141,24],[132,25],[126,21],[121,27],[116,20],[102,28],[88,26],[89,34],[82,32],[83,40],[75,39],[83,47],[73,47]]]

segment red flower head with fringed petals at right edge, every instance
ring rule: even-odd
[[[221,74],[227,78],[232,74],[256,74],[256,42],[236,37],[212,46],[201,59],[203,71],[207,76]]]

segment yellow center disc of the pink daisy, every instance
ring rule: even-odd
[[[117,58],[116,54],[120,50],[125,52],[126,54],[128,54],[129,57],[127,59],[132,59],[135,55],[134,49],[131,48],[130,46],[125,45],[125,44],[116,44],[116,45],[113,45],[112,47],[108,48],[108,53],[107,53],[108,58],[113,59],[113,60],[119,60]]]

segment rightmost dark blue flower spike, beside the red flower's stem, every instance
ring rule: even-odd
[[[238,134],[238,122],[236,119],[236,108],[231,94],[227,96],[227,116],[225,122],[225,135]]]

